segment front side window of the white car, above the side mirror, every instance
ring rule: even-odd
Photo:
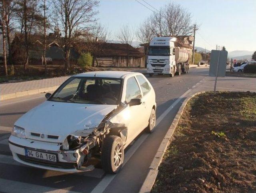
[[[127,80],[126,84],[126,102],[129,103],[131,99],[141,98],[140,88],[135,77]]]

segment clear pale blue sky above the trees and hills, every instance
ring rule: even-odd
[[[147,5],[142,0],[138,1]],[[156,9],[167,2],[172,2],[145,1]],[[218,44],[225,46],[229,52],[256,50],[256,0],[173,0],[173,2],[181,4],[191,12],[193,21],[200,25],[200,29],[196,32],[196,46],[212,50]],[[100,23],[108,27],[112,36],[123,24],[137,28],[152,13],[136,0],[100,0],[98,10]]]

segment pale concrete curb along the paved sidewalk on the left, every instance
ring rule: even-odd
[[[33,95],[33,94],[51,92],[51,91],[55,91],[58,87],[59,87],[59,85],[52,86],[52,87],[46,87],[46,88],[39,88],[39,89],[34,89],[34,90],[26,90],[26,91],[22,91],[22,92],[15,92],[15,93],[10,93],[10,94],[4,94],[4,95],[0,95],[0,100],[3,101],[3,100],[7,100],[7,99],[22,97],[22,96],[29,96],[29,95]]]

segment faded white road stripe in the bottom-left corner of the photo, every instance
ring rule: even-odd
[[[26,192],[26,193],[40,193],[40,192],[48,192],[48,193],[76,193],[74,191],[69,191],[66,189],[57,189],[57,188],[51,188],[41,185],[34,185],[30,183],[24,183],[24,182],[18,182],[18,181],[12,181],[8,179],[2,179],[0,178],[0,192],[13,192],[13,193],[20,193],[20,192]]]

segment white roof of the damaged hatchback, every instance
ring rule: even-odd
[[[128,71],[94,71],[94,72],[84,72],[81,74],[76,74],[78,77],[102,77],[102,78],[124,78],[124,76],[130,74],[139,74],[136,72],[128,72]]]

